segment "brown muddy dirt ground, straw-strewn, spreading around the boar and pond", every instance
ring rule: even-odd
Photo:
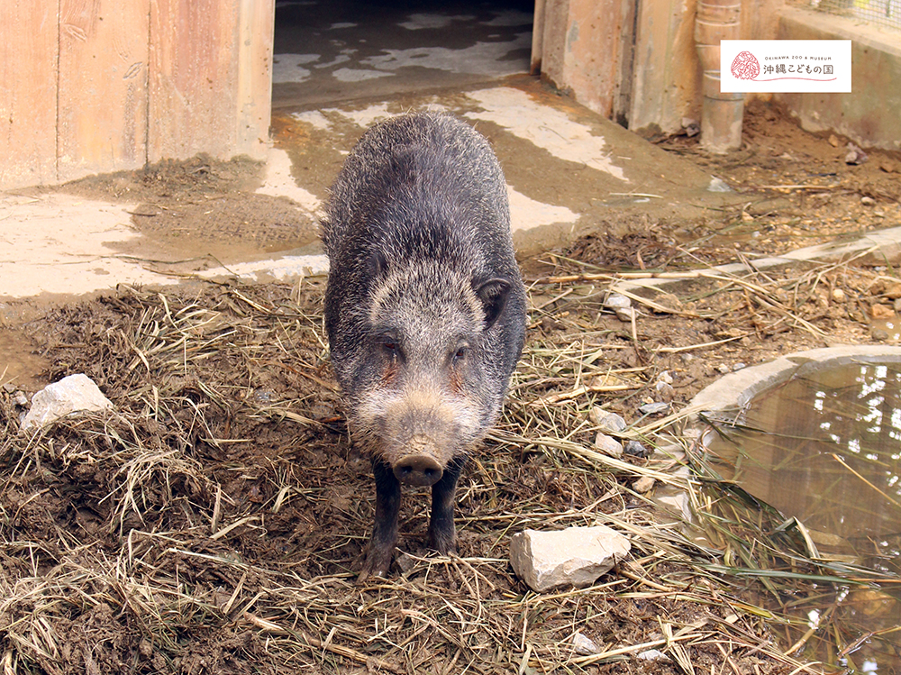
[[[901,161],[873,152],[846,164],[846,140],[801,132],[766,104],[751,106],[742,150],[726,158],[696,138],[655,141],[747,203],[693,222],[632,214],[522,261],[528,345],[504,418],[461,483],[460,557],[428,555],[426,499],[411,495],[405,555],[385,581],[355,582],[371,479],[342,424],[322,279],[122,288],[7,310],[28,320],[0,333],[43,372],[0,388],[4,673],[795,671],[787,635],[746,604],[748,583],[703,571],[722,552],[691,543],[661,519],[653,489],[635,487],[653,474],[662,488],[684,452],[642,433],[650,458],[598,458],[587,411],[647,430],[643,403],[678,412],[742,364],[890,339],[869,320],[895,315],[894,263],[688,279],[633,298],[634,324],[605,298],[620,272],[707,269],[896,226]],[[134,220],[165,236],[207,226],[210,202],[210,236],[295,236],[271,199],[272,212],[238,207],[253,177],[196,160],[83,189],[129,191],[166,212]],[[19,434],[41,382],[76,372],[116,413]],[[536,595],[515,578],[510,534],[596,522],[628,534],[633,552],[595,588]],[[575,652],[577,632],[603,658]]]

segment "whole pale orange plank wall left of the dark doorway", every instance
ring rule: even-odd
[[[2,0],[0,187],[261,159],[274,0]]]

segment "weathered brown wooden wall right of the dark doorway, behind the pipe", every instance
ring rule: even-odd
[[[536,0],[532,72],[641,132],[700,121],[697,0]],[[784,0],[742,0],[742,38],[776,38]]]

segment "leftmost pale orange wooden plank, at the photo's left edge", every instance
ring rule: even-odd
[[[56,182],[58,0],[0,2],[0,188]]]

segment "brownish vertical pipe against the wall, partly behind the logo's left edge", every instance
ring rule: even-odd
[[[720,91],[720,41],[738,40],[741,0],[698,0],[695,45],[704,69],[701,147],[717,154],[742,147],[744,95]]]

